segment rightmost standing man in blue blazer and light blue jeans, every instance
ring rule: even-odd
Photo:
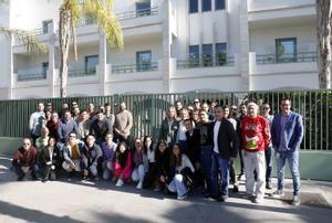
[[[300,200],[300,171],[299,148],[303,139],[302,116],[291,112],[291,99],[281,99],[281,113],[274,116],[272,121],[272,145],[276,149],[278,190],[276,197],[283,195],[283,170],[288,160],[293,179],[293,205],[299,205]]]

